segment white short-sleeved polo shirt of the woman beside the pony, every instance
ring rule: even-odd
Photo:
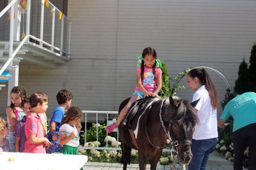
[[[218,137],[217,110],[211,106],[211,98],[205,86],[197,89],[193,101],[198,101],[195,109],[198,110],[199,123],[195,126],[193,139],[204,140]]]

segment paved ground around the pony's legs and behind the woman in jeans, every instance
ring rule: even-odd
[[[83,166],[84,170],[122,170],[123,165],[120,163],[102,163],[102,162],[87,162]],[[150,165],[147,165],[147,169],[150,169]],[[157,170],[172,170],[170,165],[158,165]],[[127,170],[139,170],[138,164],[130,164],[127,166]],[[214,151],[211,153],[207,170],[233,170],[233,162],[229,162],[224,156]]]

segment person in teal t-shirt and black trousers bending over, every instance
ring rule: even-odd
[[[224,129],[225,121],[232,116],[233,144],[235,151],[234,170],[243,169],[243,153],[249,145],[248,169],[256,169],[256,93],[247,92],[241,95],[229,94],[230,100],[225,106],[218,121],[218,127]]]

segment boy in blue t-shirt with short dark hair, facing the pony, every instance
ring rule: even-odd
[[[50,131],[48,134],[48,140],[52,143],[49,149],[46,150],[47,154],[59,152],[62,146],[59,144],[59,129],[60,123],[63,117],[65,117],[65,109],[70,108],[73,96],[68,90],[60,90],[56,95],[58,107],[53,111],[52,118],[50,120]]]

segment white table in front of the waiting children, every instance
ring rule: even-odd
[[[87,160],[85,155],[0,152],[0,170],[80,170]]]

